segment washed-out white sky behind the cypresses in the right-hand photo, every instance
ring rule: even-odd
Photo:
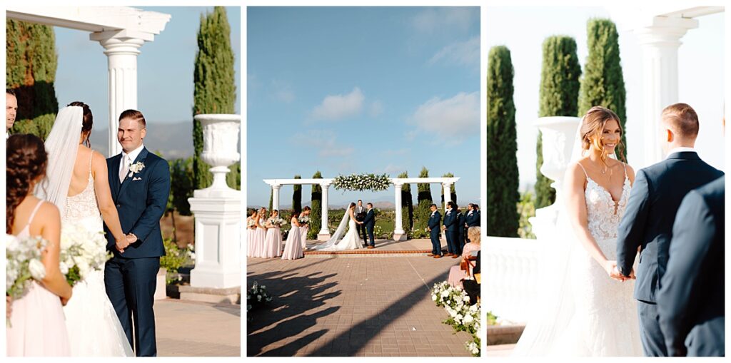
[[[496,45],[510,48],[515,68],[515,121],[518,123],[518,169],[520,188],[535,183],[539,84],[542,42],[552,35],[569,35],[577,43],[580,64],[586,62],[586,22],[590,18],[612,18],[618,26],[621,64],[626,88],[628,122],[643,118],[642,48],[629,23],[623,18],[635,10],[630,7],[488,7],[485,17],[488,49]],[[697,18],[698,28],[681,39],[678,53],[678,99],[690,104],[700,119],[696,142],[701,158],[724,169],[721,118],[724,104],[724,14]],[[526,31],[527,28],[532,31]],[[658,110],[660,112],[660,110]],[[629,164],[632,148],[643,140],[627,129]],[[490,145],[488,145],[488,148]]]

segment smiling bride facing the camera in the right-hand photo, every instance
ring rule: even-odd
[[[618,116],[604,107],[592,107],[579,126],[555,256],[546,257],[541,303],[513,355],[642,356],[634,280],[616,271],[617,228],[635,180],[632,167],[613,158],[621,134]]]

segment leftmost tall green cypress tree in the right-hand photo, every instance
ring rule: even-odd
[[[518,236],[518,142],[515,129],[514,71],[510,50],[492,47],[488,56],[487,234]]]

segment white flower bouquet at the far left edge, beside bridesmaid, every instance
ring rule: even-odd
[[[18,299],[28,291],[32,280],[40,281],[45,278],[41,253],[47,243],[41,237],[5,236],[5,294]]]

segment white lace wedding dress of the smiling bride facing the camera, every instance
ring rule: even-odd
[[[625,176],[618,202],[587,175],[584,193],[588,230],[609,260],[616,260],[617,228],[631,189]],[[616,207],[615,207],[616,206]],[[570,232],[569,232],[570,233]],[[564,232],[565,237],[569,237]],[[515,347],[517,356],[642,356],[634,280],[614,280],[572,238],[565,288],[539,297],[541,304],[558,303],[529,321]],[[549,309],[550,310],[550,309]],[[531,326],[537,324],[538,326]],[[529,330],[531,329],[531,330]]]

